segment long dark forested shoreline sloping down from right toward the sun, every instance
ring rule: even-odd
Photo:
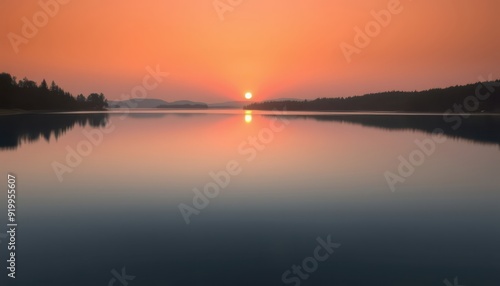
[[[480,88],[478,88],[480,87]],[[478,96],[479,90],[479,96]],[[484,99],[483,96],[490,96]],[[475,98],[475,99],[474,99]],[[425,91],[390,91],[362,96],[318,98],[304,101],[265,101],[252,103],[244,109],[295,111],[394,111],[394,112],[463,112],[500,113],[500,81],[436,88]],[[468,109],[464,107],[468,106]],[[469,110],[471,109],[471,110]]]

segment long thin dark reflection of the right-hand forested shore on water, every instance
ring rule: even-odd
[[[446,136],[451,138],[500,145],[500,116],[470,116],[463,118],[460,125],[446,122],[442,115],[336,114],[287,116],[287,119],[294,118],[354,123],[386,130],[411,130],[427,133],[432,133],[436,128],[440,128]]]

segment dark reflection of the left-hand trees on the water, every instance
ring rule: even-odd
[[[0,116],[0,149],[15,149],[25,142],[44,138],[55,139],[79,125],[101,127],[108,122],[108,115],[96,114],[22,114]]]

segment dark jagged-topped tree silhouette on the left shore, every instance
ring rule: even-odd
[[[23,78],[19,81],[8,73],[0,74],[0,109],[23,110],[104,110],[108,101],[102,93],[76,98],[54,81],[36,82]]]

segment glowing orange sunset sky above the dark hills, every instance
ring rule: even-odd
[[[391,1],[242,0],[221,20],[213,0],[71,0],[13,45],[9,33],[23,37],[23,17],[33,22],[43,10],[39,1],[3,0],[0,71],[118,99],[159,65],[170,76],[149,98],[209,103],[246,91],[256,100],[316,98],[500,78],[495,0],[401,0],[349,63],[340,44],[354,45],[354,27]]]

